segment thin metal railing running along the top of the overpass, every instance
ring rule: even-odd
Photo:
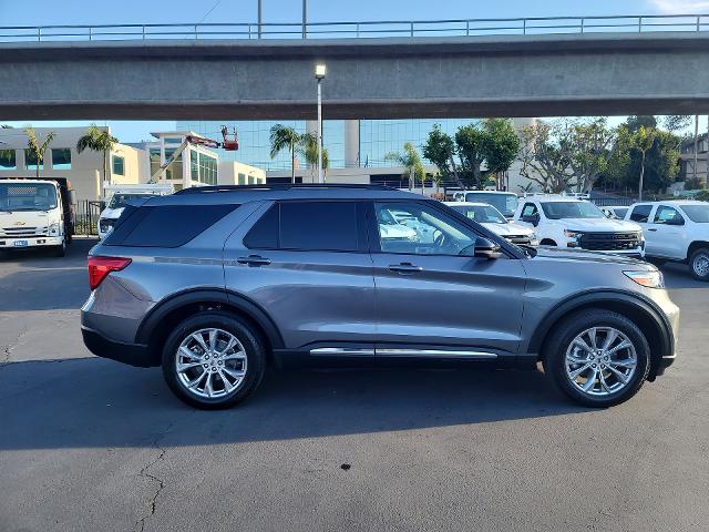
[[[173,23],[0,27],[0,42],[481,37],[709,31],[709,14],[531,17],[361,22]]]

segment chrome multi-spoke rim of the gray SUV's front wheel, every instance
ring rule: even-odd
[[[589,396],[603,397],[624,389],[638,365],[635,346],[613,327],[593,327],[576,336],[566,350],[566,376]]]

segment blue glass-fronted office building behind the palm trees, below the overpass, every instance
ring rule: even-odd
[[[397,166],[397,163],[388,161],[387,154],[402,152],[407,142],[422,150],[434,124],[440,124],[444,132],[454,135],[461,125],[475,121],[475,119],[328,120],[322,125],[322,142],[328,150],[331,168],[392,167]],[[306,121],[179,121],[177,130],[194,131],[206,137],[220,140],[222,124],[228,125],[229,131],[236,126],[239,150],[238,152],[217,150],[220,161],[239,161],[266,171],[286,171],[290,168],[288,152],[284,151],[275,158],[270,157],[270,129],[277,123],[294,127],[300,133],[307,130],[315,131],[317,127],[316,122]],[[301,156],[299,165],[306,166]]]

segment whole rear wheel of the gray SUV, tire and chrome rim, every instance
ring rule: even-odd
[[[163,375],[171,390],[196,408],[227,408],[260,383],[264,342],[246,324],[218,310],[182,321],[163,349]]]

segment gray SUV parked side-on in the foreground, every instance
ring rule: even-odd
[[[653,265],[517,247],[382,186],[188,188],[125,208],[89,256],[85,345],[162,366],[198,408],[267,367],[535,369],[607,407],[675,359],[678,308]]]

